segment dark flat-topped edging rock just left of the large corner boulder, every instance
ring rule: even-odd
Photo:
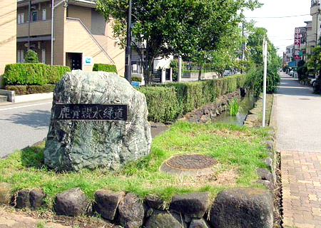
[[[192,218],[201,218],[209,207],[208,192],[192,192],[174,195],[170,202],[170,209],[180,214],[187,214]]]

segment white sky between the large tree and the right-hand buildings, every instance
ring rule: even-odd
[[[256,21],[256,27],[267,29],[267,36],[278,48],[282,56],[286,46],[294,43],[295,27],[305,26],[305,21],[312,21],[310,16],[311,0],[259,0],[264,5],[254,11],[245,11],[246,21]],[[307,16],[298,16],[308,14]],[[292,16],[286,18],[264,19],[263,17]],[[259,17],[259,18],[250,18]]]

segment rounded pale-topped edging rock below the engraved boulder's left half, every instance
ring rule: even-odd
[[[79,187],[58,193],[54,202],[54,211],[58,215],[77,216],[85,212],[88,200]]]

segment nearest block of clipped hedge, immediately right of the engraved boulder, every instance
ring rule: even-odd
[[[146,96],[148,120],[154,122],[175,120],[179,113],[175,88],[147,86],[137,88],[137,90]]]

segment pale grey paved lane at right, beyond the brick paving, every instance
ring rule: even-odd
[[[277,150],[321,152],[321,96],[281,73],[275,94]]]

